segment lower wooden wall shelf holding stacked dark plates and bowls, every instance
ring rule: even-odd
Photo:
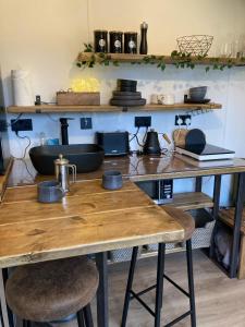
[[[174,104],[174,105],[146,105],[142,107],[117,107],[110,105],[100,106],[11,106],[9,113],[59,113],[59,112],[121,112],[121,111],[171,111],[171,110],[198,110],[198,109],[221,109],[220,104]]]

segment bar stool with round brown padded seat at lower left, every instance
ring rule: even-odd
[[[7,281],[10,308],[30,322],[63,323],[75,316],[79,327],[93,327],[90,301],[98,288],[96,265],[87,257],[72,257],[17,267]]]

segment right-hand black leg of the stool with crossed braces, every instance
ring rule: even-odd
[[[192,240],[186,241],[186,261],[187,261],[187,275],[188,275],[191,320],[192,320],[192,327],[196,327],[196,305],[195,305],[194,278],[193,278]]]

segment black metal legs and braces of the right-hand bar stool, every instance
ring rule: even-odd
[[[130,301],[133,299],[137,300],[154,317],[155,317],[155,327],[160,327],[161,322],[161,308],[162,308],[162,293],[163,293],[163,279],[166,278],[171,282],[179,291],[189,299],[189,311],[185,312],[177,318],[164,325],[164,327],[170,327],[191,315],[192,327],[196,327],[196,307],[195,307],[195,292],[194,292],[194,278],[193,278],[193,258],[192,258],[192,241],[186,241],[186,262],[187,262],[187,275],[188,275],[188,292],[181,288],[175,281],[169,278],[164,274],[164,256],[166,256],[166,244],[159,243],[158,245],[158,264],[157,264],[157,283],[148,287],[147,289],[135,293],[133,291],[133,279],[134,270],[137,261],[138,246],[133,247],[132,259],[130,265],[130,272],[124,299],[123,314],[121,327],[126,326],[127,312],[130,306]],[[140,295],[156,289],[156,303],[155,311],[152,311],[145,301],[140,299]]]

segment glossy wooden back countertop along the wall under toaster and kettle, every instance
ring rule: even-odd
[[[195,160],[193,161],[195,162]],[[50,175],[38,175],[29,160],[26,161],[26,165],[32,175],[29,175],[22,161],[15,161],[9,178],[9,185],[33,184],[53,178]],[[120,170],[124,177],[130,178],[130,180],[134,182],[229,174],[245,171],[245,160],[243,159],[231,160],[230,166],[212,167],[213,164],[210,162],[203,165],[205,165],[205,167],[186,162],[180,155],[173,155],[171,157],[164,155],[161,157],[136,155],[118,158],[108,157],[105,158],[100,169],[89,173],[77,174],[77,180],[100,179],[103,171],[107,170]]]

